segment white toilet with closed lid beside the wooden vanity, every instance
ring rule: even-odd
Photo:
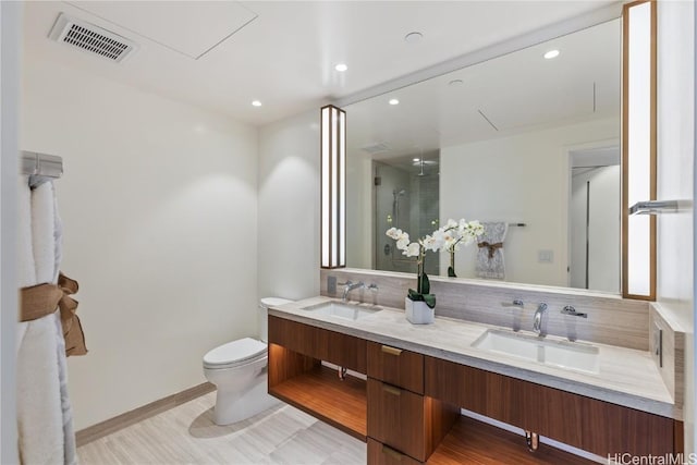
[[[239,339],[204,355],[204,376],[218,390],[213,420],[230,425],[249,418],[280,403],[267,393],[268,309],[285,298],[266,297],[259,303],[261,340]]]

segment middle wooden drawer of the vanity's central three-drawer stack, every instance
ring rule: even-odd
[[[424,396],[368,378],[368,436],[426,460]]]

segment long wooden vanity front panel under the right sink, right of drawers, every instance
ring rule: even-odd
[[[426,357],[426,395],[600,456],[680,452],[672,418]]]

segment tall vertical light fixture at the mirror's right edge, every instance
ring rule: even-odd
[[[656,298],[656,217],[629,206],[656,199],[656,1],[624,5],[622,295]]]

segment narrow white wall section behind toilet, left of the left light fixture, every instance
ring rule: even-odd
[[[259,296],[319,295],[319,109],[259,135]]]

